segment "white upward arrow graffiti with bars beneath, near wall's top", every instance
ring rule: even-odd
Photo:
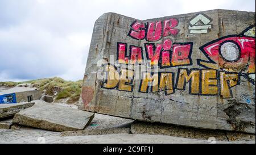
[[[201,33],[208,33],[210,28],[212,28],[212,19],[209,18],[205,14],[197,14],[191,20],[189,20],[189,33],[201,34]]]

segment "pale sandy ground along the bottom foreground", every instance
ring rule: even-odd
[[[0,129],[0,143],[209,143],[208,140],[186,139],[162,135],[113,134],[61,137],[59,132],[40,129]],[[255,141],[216,141],[216,143],[255,143]]]

